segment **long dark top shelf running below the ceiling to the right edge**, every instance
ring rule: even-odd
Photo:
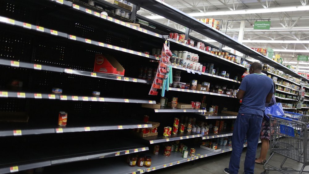
[[[242,43],[238,42],[237,40],[234,40],[230,36],[227,36],[226,34],[220,32],[219,30],[216,30],[212,28],[209,25],[206,25],[202,23],[201,21],[197,20],[196,18],[187,15],[186,13],[168,5],[165,2],[162,2],[161,0],[132,0],[133,4],[137,4],[141,6],[142,8],[149,10],[157,15],[163,16],[167,19],[170,19],[171,21],[174,21],[180,25],[183,25],[187,28],[190,28],[204,36],[207,36],[211,39],[214,39],[218,41],[219,43],[222,43],[223,45],[226,45],[232,49],[235,49],[241,53],[244,53],[250,57],[253,57],[261,62],[265,62],[270,66],[273,66],[274,68],[281,70],[287,74],[292,75],[293,77],[299,78],[299,79],[306,79],[303,76],[295,73],[294,71],[290,70],[286,66],[283,66],[281,64],[278,64],[277,62],[273,61],[272,59],[254,51],[253,49],[249,48],[246,45],[243,45]],[[306,81],[309,81],[306,79]]]

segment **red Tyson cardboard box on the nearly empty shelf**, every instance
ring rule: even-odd
[[[125,69],[112,56],[105,56],[103,54],[95,54],[94,72],[105,74],[125,75]]]

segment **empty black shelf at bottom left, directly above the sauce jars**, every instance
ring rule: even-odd
[[[38,149],[29,150],[27,152],[15,149],[10,152],[3,153],[1,160],[2,164],[0,165],[0,174],[10,173],[13,167],[17,167],[18,171],[23,171],[32,168],[89,159],[108,158],[149,150],[147,146],[129,141],[121,142],[121,140],[117,140],[113,143],[113,145],[106,146],[102,146],[100,143],[95,144],[93,141],[83,143],[78,143],[76,140],[74,142],[61,142],[61,146],[71,147],[70,149],[67,148],[66,151],[57,151],[59,150],[58,142],[53,142],[52,144],[54,147],[49,145],[50,147],[38,147]],[[92,148],[85,148],[87,146]],[[52,149],[55,151],[52,151]],[[40,153],[35,153],[36,150],[41,151]],[[16,155],[18,155],[18,158],[14,158]]]

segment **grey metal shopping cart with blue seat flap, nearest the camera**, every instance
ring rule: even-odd
[[[269,171],[277,171],[285,174],[309,174],[309,171],[303,171],[305,166],[309,165],[309,138],[307,123],[286,117],[279,117],[270,114],[267,115],[270,118],[270,138],[272,140],[270,142],[271,156],[264,164],[263,168],[265,171],[261,174],[268,174]],[[269,163],[275,154],[285,157],[280,168]],[[302,163],[303,167],[301,170],[298,171],[293,168],[283,167],[287,158]]]

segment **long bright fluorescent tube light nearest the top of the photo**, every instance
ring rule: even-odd
[[[210,11],[210,12],[197,12],[188,13],[188,15],[196,16],[218,16],[218,15],[241,15],[241,14],[254,14],[254,13],[273,13],[284,11],[306,11],[309,9],[307,6],[289,6],[289,7],[274,7],[274,8],[260,8],[260,9],[244,9],[244,10],[229,10],[229,11]],[[148,19],[164,19],[165,17],[160,15],[145,16]]]

